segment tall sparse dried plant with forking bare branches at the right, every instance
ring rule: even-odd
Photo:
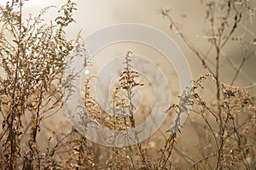
[[[207,72],[210,72],[211,76],[207,74],[194,81],[194,88],[192,88],[194,104],[191,111],[191,114],[195,113],[199,116],[197,118],[198,121],[193,123],[194,128],[198,131],[201,130],[198,132],[199,140],[203,140],[205,138],[204,135],[207,136],[207,143],[203,143],[207,147],[205,150],[198,151],[201,154],[201,158],[198,160],[198,157],[191,157],[183,150],[178,150],[175,147],[175,136],[172,133],[166,140],[169,150],[166,150],[165,146],[164,151],[170,153],[175,149],[176,154],[181,156],[186,163],[192,164],[191,167],[187,167],[189,169],[254,169],[255,103],[251,97],[252,95],[246,90],[232,86],[236,82],[246,59],[255,56],[253,42],[245,43],[243,42],[244,39],[236,35],[236,30],[239,27],[244,28],[242,20],[247,20],[247,17],[251,17],[255,12],[255,8],[249,6],[249,1],[202,1],[202,3],[207,7],[206,20],[210,26],[210,30],[206,35],[210,48],[206,54],[195,48],[193,42],[183,33],[181,26],[172,19],[172,9],[163,9],[161,14],[171,22],[170,29],[176,32],[178,37],[181,37],[195,56],[200,59],[201,65]],[[225,46],[231,41],[238,42],[241,44],[241,49],[244,49],[239,67],[233,65],[229,56],[223,55]],[[253,50],[253,53],[251,50]],[[215,61],[212,61],[211,57]],[[223,57],[227,58],[230,65],[236,70],[230,86],[222,83],[220,78],[220,64]],[[201,93],[197,92],[198,88],[204,88],[202,82],[207,77],[212,77],[213,82],[216,84],[216,102],[203,99]],[[179,106],[172,105],[175,108]],[[201,129],[201,126],[203,129]],[[247,134],[244,132],[247,132]],[[162,161],[163,158],[161,157],[160,160]],[[170,161],[170,165],[170,168],[177,166],[172,161]]]

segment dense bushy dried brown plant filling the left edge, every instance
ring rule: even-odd
[[[44,160],[37,136],[44,113],[61,108],[61,75],[73,50],[65,27],[73,22],[75,3],[68,0],[59,11],[63,15],[47,24],[42,19],[48,8],[36,17],[23,19],[23,4],[11,1],[0,6],[1,169],[39,169]],[[26,125],[22,117],[30,117]],[[24,126],[28,126],[25,127]],[[21,137],[29,131],[29,138]],[[23,145],[24,146],[23,148]]]

